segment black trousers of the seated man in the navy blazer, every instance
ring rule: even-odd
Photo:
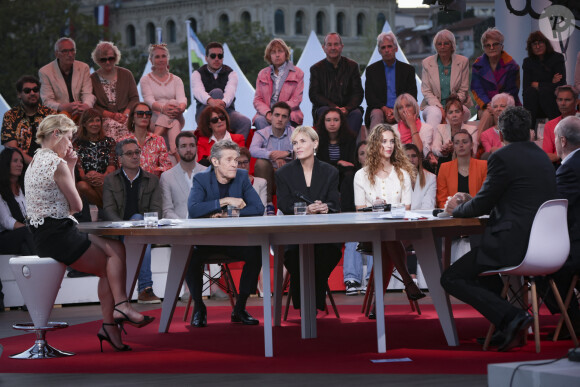
[[[245,262],[238,293],[242,298],[247,299],[250,294],[256,292],[262,269],[262,249],[260,246],[196,246],[185,277],[191,297],[196,303],[203,301],[203,265],[205,260],[216,254]]]

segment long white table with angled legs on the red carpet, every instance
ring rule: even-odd
[[[411,240],[429,288],[441,327],[450,346],[458,345],[449,297],[441,288],[441,259],[435,235],[481,229],[479,219],[385,220],[373,213],[275,216],[227,219],[188,219],[159,228],[104,228],[109,222],[83,223],[79,228],[98,235],[124,235],[127,250],[127,294],[132,294],[148,243],[172,245],[159,332],[167,332],[193,245],[261,246],[264,294],[270,294],[270,245],[278,246],[274,260],[274,325],[280,325],[283,245],[300,245],[302,338],[316,337],[313,251],[316,243],[372,241],[376,305],[384,305],[381,241]],[[377,309],[377,349],[386,352],[384,313]],[[264,297],[265,356],[273,356],[272,301]]]

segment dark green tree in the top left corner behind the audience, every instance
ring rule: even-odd
[[[63,36],[76,42],[77,60],[91,63],[91,51],[105,37],[92,16],[79,13],[69,0],[12,0],[0,2],[0,93],[17,103],[14,84],[25,74],[54,60],[54,43]]]

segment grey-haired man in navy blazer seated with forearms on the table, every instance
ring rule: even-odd
[[[187,206],[190,218],[221,217],[222,209],[227,206],[239,208],[240,216],[264,214],[264,205],[250,183],[248,171],[238,169],[239,156],[240,148],[231,140],[222,140],[213,145],[209,156],[211,166],[193,177]],[[231,320],[244,325],[258,324],[258,320],[246,311],[246,301],[250,294],[256,292],[262,268],[261,248],[196,246],[186,275],[187,286],[195,302],[192,325],[198,328],[207,325],[207,310],[202,300],[203,264],[213,255],[225,255],[245,262]]]

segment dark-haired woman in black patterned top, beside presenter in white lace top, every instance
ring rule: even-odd
[[[83,199],[102,208],[105,176],[117,168],[116,143],[105,136],[102,116],[96,109],[85,110],[79,127],[80,131],[73,141],[78,155],[77,191]]]

